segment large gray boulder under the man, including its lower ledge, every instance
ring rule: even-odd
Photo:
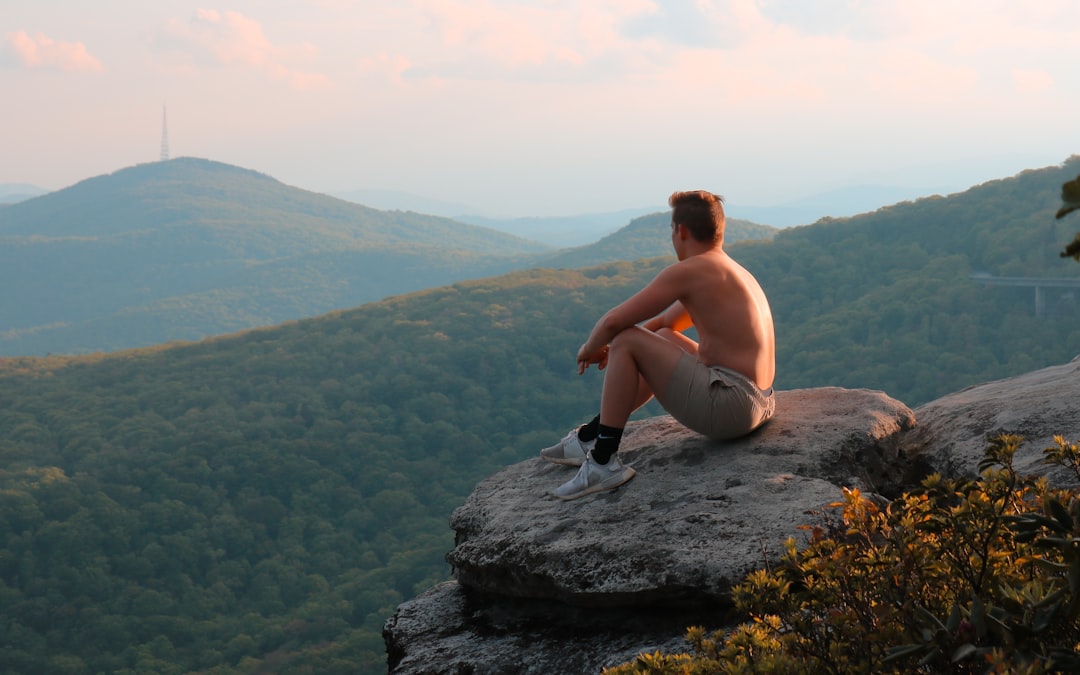
[[[573,470],[539,458],[482,482],[450,518],[457,580],[387,622],[391,672],[585,673],[676,650],[841,486],[905,482],[903,403],[837,388],[777,403],[774,420],[726,443],[666,416],[631,424],[620,456],[637,476],[613,492],[561,501],[551,490]]]

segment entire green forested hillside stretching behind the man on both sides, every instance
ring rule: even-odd
[[[913,407],[1076,355],[1080,160],[740,242],[781,389]],[[665,225],[659,234],[665,241]],[[0,671],[384,672],[483,477],[595,410],[573,355],[671,258],[532,270],[191,345],[0,360]],[[781,411],[782,414],[782,411]],[[554,486],[553,486],[554,487]]]

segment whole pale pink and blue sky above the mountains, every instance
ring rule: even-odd
[[[0,4],[0,183],[161,157],[503,216],[960,191],[1080,153],[1075,0]]]

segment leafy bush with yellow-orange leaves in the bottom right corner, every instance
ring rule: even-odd
[[[1021,440],[994,438],[977,480],[890,503],[846,489],[804,550],[735,588],[748,622],[605,672],[1080,672],[1080,495],[1020,475]],[[1047,463],[1080,480],[1080,448],[1055,443]]]

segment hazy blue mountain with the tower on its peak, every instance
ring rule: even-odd
[[[114,350],[311,316],[546,251],[191,158],[0,208],[0,353]]]

